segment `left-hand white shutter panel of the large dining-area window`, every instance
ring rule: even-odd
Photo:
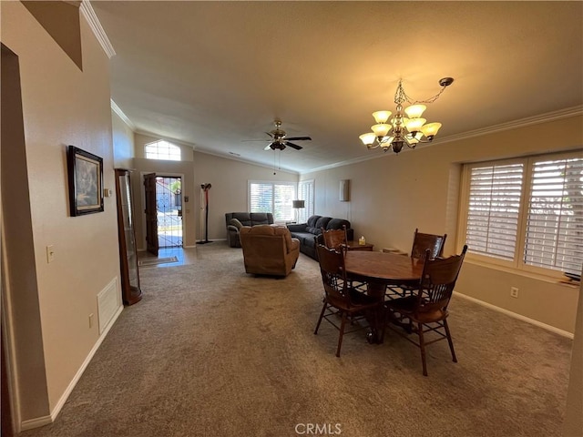
[[[523,173],[523,164],[471,168],[468,250],[499,259],[515,258]]]

